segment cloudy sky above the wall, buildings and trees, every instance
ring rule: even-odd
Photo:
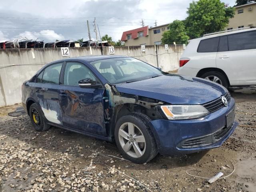
[[[0,41],[19,36],[44,42],[88,40],[87,20],[92,39],[93,21],[100,36],[121,39],[122,32],[170,23],[187,17],[192,0],[0,0]],[[234,0],[222,0],[234,6]],[[99,33],[98,33],[99,36]]]

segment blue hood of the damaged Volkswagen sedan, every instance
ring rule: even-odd
[[[170,104],[204,104],[227,92],[226,88],[214,82],[176,74],[117,84],[116,89]]]

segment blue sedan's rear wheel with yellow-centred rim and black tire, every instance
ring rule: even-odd
[[[33,103],[29,108],[29,116],[31,123],[36,131],[42,132],[50,129],[50,125],[46,124],[44,121],[44,114],[41,110],[41,107]]]

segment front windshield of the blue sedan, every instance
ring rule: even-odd
[[[135,58],[110,58],[91,62],[111,84],[129,83],[165,73]]]

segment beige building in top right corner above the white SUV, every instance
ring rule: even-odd
[[[229,20],[227,30],[256,27],[256,2],[235,7],[234,17]]]

